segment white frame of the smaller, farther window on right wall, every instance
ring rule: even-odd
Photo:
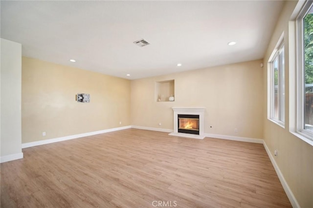
[[[284,33],[281,35],[275,49],[273,50],[271,56],[268,59],[268,120],[272,121],[273,123],[285,128],[285,108],[286,108],[286,102],[284,98],[284,103],[281,104],[280,99],[280,91],[281,91],[281,73],[283,73],[283,85],[285,87],[285,64],[281,64],[281,58],[280,54],[283,52],[284,54],[284,62],[285,62],[285,44],[284,44]],[[275,114],[275,79],[274,79],[274,62],[278,62],[278,69],[277,69],[277,102],[278,102],[278,117],[276,118],[274,116]],[[283,66],[282,66],[283,65]],[[283,67],[283,69],[281,68]],[[285,91],[285,90],[284,90]],[[282,115],[281,115],[281,108],[283,106],[283,118],[282,121]]]

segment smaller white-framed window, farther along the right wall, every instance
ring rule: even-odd
[[[282,35],[283,37],[283,35]],[[281,41],[282,42],[282,41]],[[280,43],[269,59],[268,118],[279,125],[285,125],[285,53]]]

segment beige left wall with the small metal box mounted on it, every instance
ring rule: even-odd
[[[90,103],[77,103],[77,93]],[[22,143],[126,125],[129,80],[22,58]]]

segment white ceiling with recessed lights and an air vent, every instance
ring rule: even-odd
[[[0,2],[1,38],[22,43],[23,56],[126,79],[261,59],[284,5],[281,0]],[[133,43],[142,38],[150,44]],[[237,44],[227,45],[231,41]]]

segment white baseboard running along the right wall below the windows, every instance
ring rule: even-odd
[[[293,208],[300,208],[300,205],[299,205],[298,201],[297,201],[296,198],[294,197],[294,195],[293,195],[293,193],[292,193],[290,187],[288,186],[288,184],[287,184],[287,182],[286,182],[286,180],[285,180],[285,178],[284,178],[282,172],[280,171],[280,169],[279,169],[279,167],[278,167],[278,165],[277,165],[277,163],[276,163],[276,161],[275,161],[273,155],[270,153],[270,151],[269,151],[269,149],[268,149],[268,146],[266,145],[266,143],[265,143],[264,140],[263,140],[263,145],[264,145],[264,148],[265,148],[266,152],[268,153],[268,157],[269,157],[269,159],[270,159],[270,162],[271,162],[271,163],[273,164],[273,166],[274,166],[274,169],[275,169],[276,174],[277,174],[277,176],[278,176],[278,178],[279,178],[279,181],[280,181],[280,183],[282,184],[282,186],[283,186],[283,188],[284,188],[284,190],[285,190],[285,192],[286,192],[286,194],[287,194],[287,197],[288,197],[288,199],[289,199],[289,201],[290,201],[290,203],[291,203],[291,206],[292,206]]]

